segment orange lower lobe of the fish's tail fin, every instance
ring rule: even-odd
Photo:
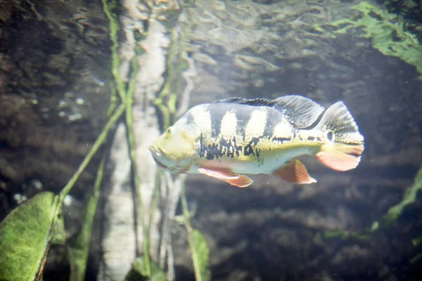
[[[333,143],[329,146],[324,145],[315,157],[328,168],[347,171],[356,168],[363,150],[363,145]]]

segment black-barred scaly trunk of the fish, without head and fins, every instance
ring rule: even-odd
[[[211,121],[204,124],[203,132],[210,133],[200,139],[191,173],[208,165],[235,173],[270,174],[274,162],[312,153],[312,146],[318,145],[300,141],[303,133],[271,107],[217,103],[200,105],[191,113]]]

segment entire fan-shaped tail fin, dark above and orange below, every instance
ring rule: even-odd
[[[364,151],[364,136],[343,102],[331,105],[316,129],[326,133],[325,143],[315,155],[319,162],[337,171],[356,168]]]

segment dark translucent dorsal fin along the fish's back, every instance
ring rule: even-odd
[[[271,100],[269,98],[226,98],[214,103],[236,103],[239,105],[273,107],[281,112],[288,121],[297,128],[307,128],[314,124],[324,111],[324,107],[309,98],[302,96],[282,96]]]

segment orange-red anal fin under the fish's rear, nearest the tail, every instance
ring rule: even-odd
[[[293,159],[279,169],[272,172],[273,176],[281,178],[288,183],[316,183],[316,180],[309,176],[305,165],[298,159]]]

